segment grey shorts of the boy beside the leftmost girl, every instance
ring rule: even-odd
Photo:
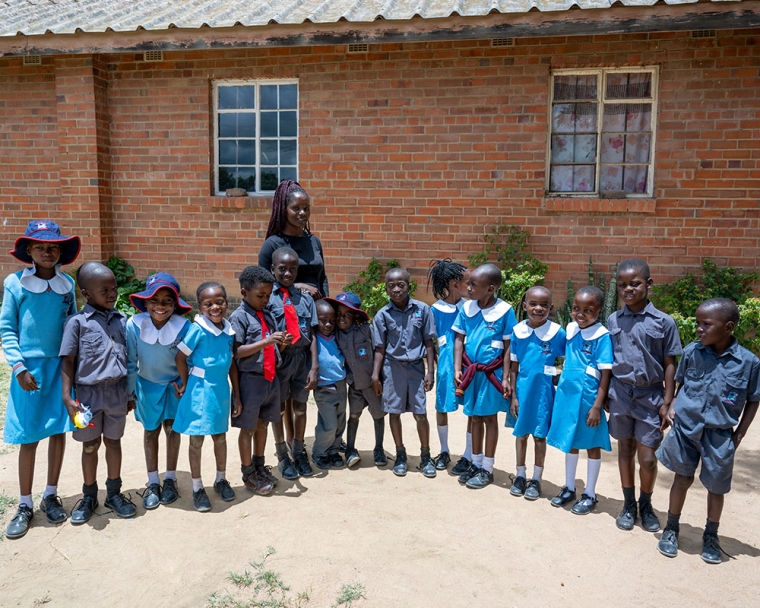
[[[77,441],[92,441],[101,435],[106,439],[121,439],[127,424],[127,379],[113,384],[77,384],[75,393],[81,405],[92,411],[94,427],[75,429]]]

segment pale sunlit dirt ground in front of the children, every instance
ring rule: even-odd
[[[313,404],[309,416],[311,425],[316,419]],[[434,424],[434,416],[429,417]],[[418,440],[411,416],[404,425],[410,454],[405,478],[372,464],[372,424],[367,416],[359,429],[358,469],[281,481],[268,497],[254,496],[243,487],[237,434],[230,431],[227,471],[237,498],[223,503],[209,489],[210,513],[193,510],[185,438],[179,467],[181,499],[146,513],[137,497],[146,481],[142,428],[130,417],[122,478],[138,504],[137,516],[120,520],[101,504],[100,515],[89,524],[54,527],[38,510],[26,537],[0,542],[0,605],[73,606],[95,599],[112,606],[204,606],[212,592],[233,591],[229,572],[243,571],[269,546],[276,554],[267,567],[281,574],[293,597],[306,592],[309,602],[304,605],[318,608],[333,605],[341,587],[355,582],[365,588],[365,599],[353,604],[361,608],[600,602],[751,606],[757,601],[760,423],[741,446],[720,529],[723,548],[736,559],[718,566],[705,564],[699,556],[706,494],[698,482],[682,516],[681,553],[670,560],[656,550],[659,533],[652,535],[638,526],[632,532],[615,527],[622,494],[614,452],[603,456],[596,511],[580,517],[549,503],[564,477],[563,456],[557,450],[549,449],[543,496],[532,503],[509,495],[514,467],[511,432],[502,430],[496,482],[484,490],[467,490],[445,473],[426,479],[415,469]],[[449,442],[456,457],[464,444],[464,425],[461,414],[450,416]],[[434,426],[431,443],[436,452]],[[81,497],[82,479],[79,445],[72,439],[67,445],[59,488],[70,510]],[[215,467],[211,442],[204,447],[208,487]],[[387,431],[389,454],[391,447]],[[40,448],[35,506],[45,483],[45,444]],[[16,460],[17,451],[0,456],[0,490],[6,496],[17,496]],[[271,439],[267,460],[274,462]],[[579,478],[585,478],[585,467],[584,456]],[[102,452],[99,477],[102,503]],[[663,522],[671,480],[661,467],[653,502]],[[6,521],[14,510],[9,509]]]

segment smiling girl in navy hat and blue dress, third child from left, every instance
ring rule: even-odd
[[[150,510],[179,498],[176,469],[180,435],[172,429],[179,404],[175,359],[177,345],[190,327],[182,315],[192,307],[179,297],[179,283],[166,272],[149,276],[145,291],[133,293],[129,299],[140,312],[127,321],[127,390],[129,407],[145,429],[148,484],[142,504]],[[158,439],[162,426],[166,433],[163,488],[158,477]]]

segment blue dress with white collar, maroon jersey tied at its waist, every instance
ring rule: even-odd
[[[459,311],[452,329],[465,335],[464,352],[470,361],[488,365],[504,353],[504,341],[512,339],[515,324],[515,311],[503,300],[497,299],[491,308],[484,310],[476,300],[469,300]],[[499,366],[494,374],[501,383],[503,366]],[[483,372],[475,374],[472,384],[464,393],[463,402],[466,416],[492,416],[509,411],[509,401]]]

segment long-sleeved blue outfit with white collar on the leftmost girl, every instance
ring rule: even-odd
[[[66,317],[76,312],[74,281],[59,267],[49,281],[27,268],[8,275],[3,285],[0,335],[5,358],[14,376],[26,370],[39,387],[25,391],[15,378],[11,380],[3,440],[34,443],[73,431],[61,397],[58,351]]]

